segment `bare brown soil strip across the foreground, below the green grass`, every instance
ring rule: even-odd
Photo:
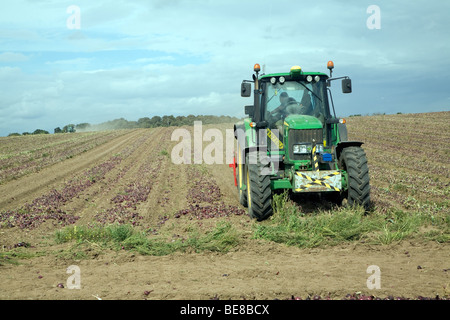
[[[66,286],[70,265],[80,267],[81,289],[57,287]],[[369,265],[380,267],[381,289],[367,288]],[[434,297],[449,293],[447,268],[447,247],[412,243],[298,249],[251,241],[227,254],[103,252],[83,260],[48,255],[2,266],[0,299],[286,299],[315,294],[341,299],[354,292]]]

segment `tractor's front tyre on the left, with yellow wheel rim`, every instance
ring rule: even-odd
[[[251,218],[262,221],[273,214],[270,175],[264,173],[269,165],[261,163],[256,151],[247,155],[246,164],[248,214]]]

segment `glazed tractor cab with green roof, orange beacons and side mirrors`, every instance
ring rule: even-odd
[[[249,82],[255,84],[255,103],[246,107],[246,114],[255,122],[256,127],[270,129],[272,135],[280,140],[284,139],[288,128],[313,129],[314,133],[308,133],[313,135],[314,143],[320,148],[327,144],[336,145],[339,137],[335,127],[339,123],[345,123],[345,119],[336,118],[334,106],[331,105],[330,108],[330,81],[343,79],[342,91],[350,93],[351,80],[348,77],[331,78],[333,68],[334,63],[329,61],[330,77],[320,72],[303,72],[300,66],[293,66],[286,73],[258,76],[259,64],[256,64],[253,81],[244,80],[241,86],[241,95],[245,97],[251,93]],[[245,86],[247,89],[244,89]],[[319,129],[322,129],[321,133]],[[345,128],[341,129],[341,140],[346,140]],[[268,144],[270,147],[270,141]]]

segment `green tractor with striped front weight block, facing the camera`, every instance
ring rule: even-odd
[[[234,125],[235,185],[240,203],[258,221],[272,215],[274,192],[320,193],[342,204],[370,203],[369,170],[360,141],[348,141],[345,119],[336,117],[331,82],[341,79],[342,92],[352,91],[349,77],[304,72],[261,74],[241,84],[241,96],[254,96],[244,120]],[[254,85],[252,91],[252,84]],[[330,107],[331,105],[331,107]]]

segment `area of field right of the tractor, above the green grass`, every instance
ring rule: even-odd
[[[450,112],[350,117],[347,127],[350,140],[364,141],[380,211],[449,212]]]

